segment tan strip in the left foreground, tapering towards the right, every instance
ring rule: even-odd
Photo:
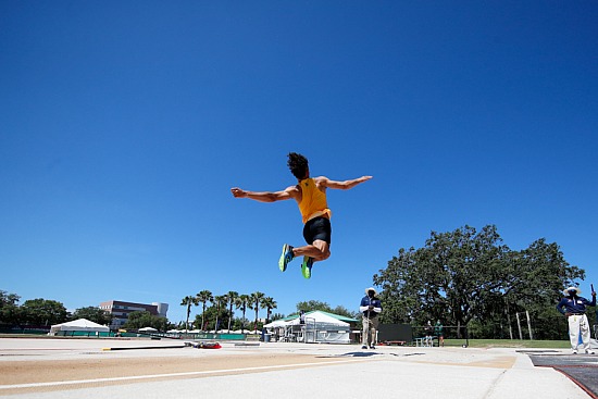
[[[295,353],[189,356],[192,351],[201,350],[176,349],[174,352],[180,356],[160,357],[114,357],[114,352],[90,352],[86,353],[84,359],[72,360],[4,359],[0,362],[0,396],[133,384],[140,381],[248,374],[359,361]]]

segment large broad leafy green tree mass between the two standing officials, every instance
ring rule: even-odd
[[[399,249],[373,279],[383,288],[381,322],[441,319],[446,325],[464,326],[553,307],[560,290],[575,278],[584,278],[584,272],[564,261],[558,245],[540,239],[512,251],[496,226],[488,225],[481,232],[470,226],[432,232],[423,248]]]

